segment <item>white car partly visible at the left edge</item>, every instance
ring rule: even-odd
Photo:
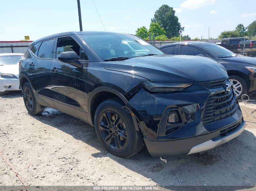
[[[19,89],[18,61],[24,54],[0,53],[0,95]]]

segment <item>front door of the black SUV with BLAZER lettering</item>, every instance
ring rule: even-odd
[[[58,55],[67,51],[74,51],[80,58],[84,57],[81,50],[81,47],[71,36],[57,38],[54,48],[55,59],[52,60],[50,78],[53,101],[57,110],[87,121],[85,112],[85,67],[78,68],[58,60]],[[81,59],[88,60],[87,56]]]

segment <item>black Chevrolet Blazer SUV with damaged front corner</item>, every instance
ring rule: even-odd
[[[131,34],[67,32],[32,42],[19,64],[28,113],[52,107],[95,126],[119,157],[210,150],[238,136],[243,116],[222,65],[165,55]]]

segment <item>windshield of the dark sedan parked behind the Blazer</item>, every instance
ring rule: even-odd
[[[198,46],[208,52],[213,58],[228,58],[236,56],[235,53],[216,44],[199,44]]]

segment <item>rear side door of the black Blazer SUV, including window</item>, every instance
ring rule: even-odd
[[[31,49],[33,56],[28,62],[27,70],[29,70],[29,72],[27,72],[32,88],[35,90],[36,97],[41,96],[40,98],[42,100],[45,100],[45,98],[52,98],[52,84],[49,71],[53,58],[54,42],[55,38],[35,44]],[[39,103],[40,100],[38,101]],[[46,101],[44,105],[53,107],[53,102]]]

